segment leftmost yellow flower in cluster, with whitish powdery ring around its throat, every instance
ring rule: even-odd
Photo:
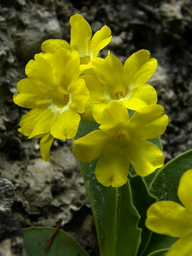
[[[71,139],[75,136],[79,113],[85,111],[89,91],[79,77],[79,54],[58,49],[50,59],[39,54],[35,61],[26,65],[28,78],[17,84],[19,94],[13,101],[26,108],[32,108],[21,119],[21,132],[28,138],[42,137],[49,144],[52,137]],[[47,145],[49,145],[47,144]]]

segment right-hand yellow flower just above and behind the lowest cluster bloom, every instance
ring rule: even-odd
[[[83,75],[90,91],[88,99],[93,106],[93,117],[97,123],[102,122],[102,113],[109,102],[119,101],[128,109],[138,110],[157,103],[155,89],[145,84],[157,68],[157,61],[149,59],[147,50],[140,50],[127,59],[124,66],[121,61],[108,53],[104,59],[92,60],[94,75]]]

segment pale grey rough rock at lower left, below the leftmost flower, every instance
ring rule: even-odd
[[[22,227],[54,226],[69,222],[72,212],[88,205],[78,163],[67,146],[53,151],[52,159],[35,158],[28,162],[9,163],[0,158],[1,177],[13,182],[13,212]]]

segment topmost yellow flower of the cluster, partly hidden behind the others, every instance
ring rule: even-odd
[[[50,39],[41,45],[40,53],[45,58],[56,52],[59,48],[77,51],[80,57],[80,73],[92,67],[92,59],[96,58],[101,49],[111,41],[111,30],[108,26],[103,26],[92,37],[92,29],[89,23],[80,14],[75,14],[70,18],[71,40],[70,44],[65,40]],[[92,38],[92,39],[91,39]]]

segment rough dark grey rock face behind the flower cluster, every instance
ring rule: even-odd
[[[192,148],[192,0],[1,0],[0,172],[15,186],[13,212],[22,226],[53,226],[58,218],[67,223],[88,202],[70,141],[55,140],[52,160],[44,163],[39,141],[17,132],[28,110],[12,101],[17,82],[26,77],[26,63],[40,52],[41,43],[70,41],[74,13],[82,14],[94,32],[104,25],[111,28],[113,40],[100,57],[110,50],[125,62],[147,49],[157,58],[149,83],[169,116],[161,137],[166,162]],[[89,254],[96,255],[93,250]]]

